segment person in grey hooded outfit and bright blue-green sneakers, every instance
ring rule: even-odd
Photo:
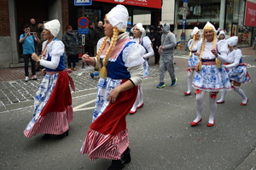
[[[170,24],[165,23],[163,25],[163,34],[161,36],[161,45],[159,48],[160,53],[160,83],[156,88],[164,88],[165,84],[165,74],[166,71],[172,80],[171,86],[175,86],[177,83],[177,78],[175,77],[174,63],[173,63],[173,53],[176,47],[176,37],[170,31]]]

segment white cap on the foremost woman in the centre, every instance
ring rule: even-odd
[[[117,5],[112,8],[107,14],[107,19],[112,26],[116,26],[119,31],[125,31],[127,27],[127,21],[129,14],[127,8],[124,5]]]

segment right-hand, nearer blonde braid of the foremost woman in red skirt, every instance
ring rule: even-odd
[[[107,78],[108,77],[108,70],[107,70],[106,66],[108,65],[108,59],[110,58],[110,54],[112,53],[113,48],[116,44],[118,35],[119,35],[119,29],[116,26],[113,26],[113,37],[111,39],[110,46],[108,48],[106,56],[104,57],[104,59],[102,61],[103,66],[102,66],[102,69],[100,71],[100,77],[102,77],[102,78]]]

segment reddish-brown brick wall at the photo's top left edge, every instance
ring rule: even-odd
[[[9,37],[9,0],[0,0],[0,37]]]

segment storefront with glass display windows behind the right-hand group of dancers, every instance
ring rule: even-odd
[[[189,0],[188,6],[183,7],[183,0],[177,0],[175,11],[177,41],[181,39],[183,27],[187,35],[185,40],[189,40],[190,32],[195,26],[202,29],[207,21],[210,21],[216,29],[225,30],[227,36],[239,37],[238,47],[251,46],[253,27],[244,23],[245,6],[244,0]],[[183,26],[184,18],[185,26]]]

